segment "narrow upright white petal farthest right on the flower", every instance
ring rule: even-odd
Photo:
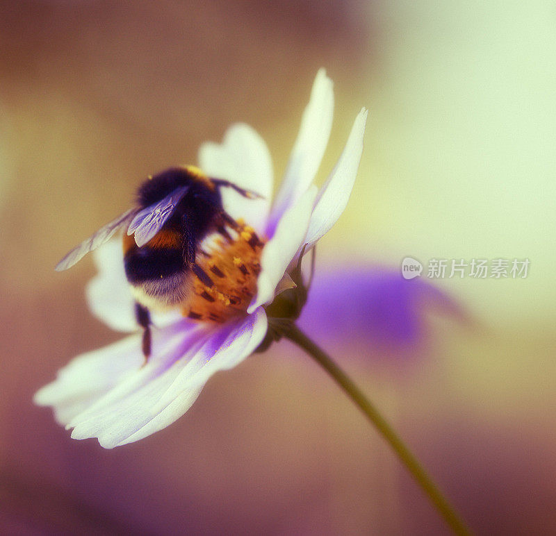
[[[320,190],[305,239],[309,246],[332,228],[347,206],[363,153],[367,114],[368,110],[362,108],[355,118],[338,163]]]

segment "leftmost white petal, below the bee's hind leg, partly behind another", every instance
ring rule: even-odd
[[[51,405],[56,421],[68,424],[126,374],[142,365],[140,349],[140,335],[131,335],[105,348],[79,355],[58,371],[56,380],[35,394],[35,403]]]

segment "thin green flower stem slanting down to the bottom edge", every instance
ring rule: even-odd
[[[300,346],[306,353],[309,353],[311,357],[318,362],[321,367],[323,367],[336,383],[346,392],[347,396],[356,403],[359,408],[366,414],[366,417],[375,425],[375,428],[379,433],[386,439],[386,442],[390,444],[393,451],[398,455],[400,461],[406,469],[411,473],[411,476],[416,480],[418,485],[423,489],[423,492],[430,499],[431,503],[434,505],[436,510],[439,511],[441,516],[445,519],[446,523],[457,535],[468,535],[468,529],[464,525],[463,521],[459,519],[455,510],[450,506],[448,501],[446,501],[443,494],[430,476],[427,475],[423,466],[418,462],[417,458],[404,444],[400,436],[393,430],[393,428],[388,424],[386,419],[377,411],[373,403],[371,403],[367,397],[361,392],[359,387],[353,383],[353,381],[345,374],[345,372],[336,365],[336,363],[322,351],[317,344],[315,344],[309,337],[307,337],[295,324],[291,323],[288,325],[282,325],[280,329],[281,335],[287,337],[292,342],[295,342]]]

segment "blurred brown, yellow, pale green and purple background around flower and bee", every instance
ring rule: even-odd
[[[88,312],[91,260],[58,274],[60,257],[232,122],[261,133],[279,178],[322,66],[336,107],[319,182],[361,106],[370,115],[304,326],[473,530],[554,533],[555,53],[542,0],[1,2],[0,531],[445,533],[287,342],[113,451],[31,401],[74,355],[122,336]],[[404,280],[406,256],[530,269]]]

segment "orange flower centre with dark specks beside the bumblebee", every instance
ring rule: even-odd
[[[264,244],[241,220],[224,235],[204,240],[195,259],[196,276],[183,315],[214,322],[244,315],[256,292]]]

